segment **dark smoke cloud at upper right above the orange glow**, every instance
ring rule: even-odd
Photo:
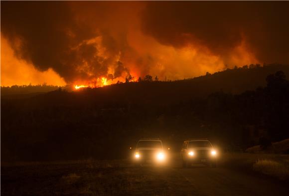
[[[289,62],[289,2],[149,2],[143,31],[163,44],[207,46],[226,59],[245,39],[263,62]]]

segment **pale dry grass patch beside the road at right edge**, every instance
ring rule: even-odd
[[[255,171],[277,177],[281,180],[289,178],[289,168],[287,165],[273,160],[258,160],[253,168]]]

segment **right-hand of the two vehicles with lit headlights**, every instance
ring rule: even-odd
[[[217,167],[217,152],[207,139],[188,139],[183,142],[181,150],[184,168],[192,164],[206,164]]]

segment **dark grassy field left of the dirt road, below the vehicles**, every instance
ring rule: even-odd
[[[1,167],[1,196],[186,195],[187,182],[168,167],[127,161],[22,164]]]

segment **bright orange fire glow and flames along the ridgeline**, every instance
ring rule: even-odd
[[[138,51],[138,55],[143,56],[147,51],[151,51],[151,58],[154,59],[154,64],[149,65],[150,62],[144,62],[144,67],[149,65],[149,74],[152,77],[158,76],[160,80],[164,80],[165,78],[170,80],[189,78],[204,75],[206,72],[214,73],[225,68],[223,60],[219,56],[211,54],[205,47],[188,45],[183,48],[174,48],[162,45],[154,39],[143,35],[140,31],[133,30],[131,33],[129,34],[128,42]],[[106,54],[102,55],[105,56]],[[233,63],[238,64],[238,62],[242,62],[241,65],[258,63],[254,55],[246,50],[245,41],[232,50],[230,58],[230,61]],[[119,59],[119,56],[116,56],[115,59]],[[134,61],[128,61],[126,64],[130,68],[131,81],[137,81],[144,67],[136,66]],[[85,66],[81,68],[84,69]],[[111,66],[109,73],[114,73],[114,71],[115,67]],[[84,87],[103,87],[117,83],[118,81],[125,82],[125,78],[126,75],[123,74],[113,79],[100,77],[87,81],[75,81],[74,88],[77,90]],[[66,85],[64,79],[51,68],[41,72],[31,63],[16,58],[7,40],[1,37],[1,86],[15,84],[37,85],[43,83],[58,86]]]

